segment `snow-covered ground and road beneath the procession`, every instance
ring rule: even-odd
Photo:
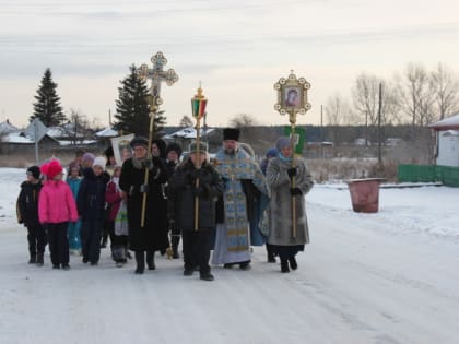
[[[157,270],[28,265],[15,222],[23,169],[0,169],[0,343],[459,343],[459,189],[380,190],[352,212],[345,185],[306,197],[311,244],[280,273],[255,248],[252,270],[184,277]]]

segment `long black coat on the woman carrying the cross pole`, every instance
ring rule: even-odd
[[[167,201],[163,195],[162,183],[168,179],[165,164],[153,157],[153,169],[149,173],[144,225],[141,226],[145,168],[136,167],[133,157],[122,164],[119,188],[127,192],[129,224],[129,245],[133,251],[164,250],[167,238]]]

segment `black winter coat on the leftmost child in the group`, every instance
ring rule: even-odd
[[[26,227],[36,227],[39,225],[38,197],[42,187],[42,181],[36,183],[24,181],[21,185],[21,192],[16,202],[17,222],[23,223]]]

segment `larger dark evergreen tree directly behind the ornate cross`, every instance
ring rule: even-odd
[[[136,73],[136,66],[131,66],[130,74],[121,81],[118,88],[119,98],[116,100],[117,114],[115,115],[115,129],[122,130],[123,134],[149,137],[150,109],[146,100],[149,90],[145,81]],[[157,138],[158,132],[165,123],[165,117],[158,111],[153,122],[153,137]]]

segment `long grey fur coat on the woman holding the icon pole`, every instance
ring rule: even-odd
[[[296,158],[297,175],[295,187],[302,191],[302,195],[295,197],[296,201],[296,238],[292,236],[292,195],[290,192],[291,180],[287,169],[292,167],[292,161],[283,161],[281,157],[271,159],[267,168],[267,181],[271,188],[271,202],[269,211],[270,232],[268,242],[280,246],[295,246],[309,242],[309,229],[306,217],[306,204],[304,195],[313,188],[313,178],[302,158]]]

